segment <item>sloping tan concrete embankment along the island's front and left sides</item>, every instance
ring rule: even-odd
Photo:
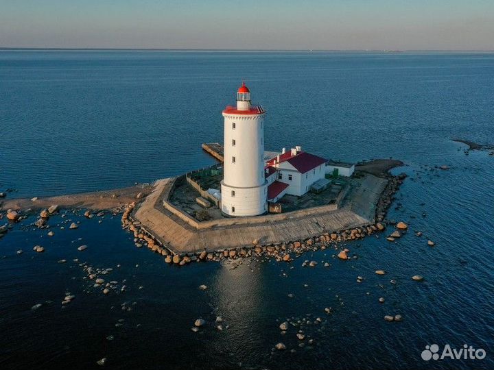
[[[197,230],[161,205],[163,194],[167,193],[173,180],[158,180],[153,192],[137,208],[133,217],[161,243],[178,253],[251,246],[253,240],[258,240],[263,245],[284,243],[373,222],[349,208],[343,208],[296,219]]]

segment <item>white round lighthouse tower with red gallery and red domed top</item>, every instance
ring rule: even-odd
[[[266,212],[268,184],[264,177],[264,110],[250,105],[245,83],[237,91],[237,106],[224,116],[224,177],[222,211],[230,216]]]

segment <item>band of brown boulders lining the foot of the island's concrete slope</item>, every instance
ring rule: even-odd
[[[136,204],[129,204],[122,214],[122,227],[132,232],[134,235],[134,243],[136,247],[148,247],[157,254],[165,257],[165,262],[169,264],[177,264],[183,266],[190,262],[236,260],[248,257],[266,257],[272,258],[277,262],[290,262],[295,258],[299,258],[307,251],[316,251],[318,249],[334,249],[333,258],[349,260],[357,258],[355,254],[351,254],[349,249],[342,245],[346,241],[359,240],[366,236],[375,235],[379,237],[379,233],[386,229],[390,223],[386,221],[386,211],[388,210],[395,193],[399,186],[403,184],[406,175],[392,176],[388,175],[388,184],[379,197],[376,207],[376,223],[369,223],[362,227],[354,227],[351,229],[340,230],[338,232],[326,232],[311,238],[303,240],[294,240],[289,243],[271,243],[263,245],[259,240],[252,240],[252,245],[246,247],[237,247],[232,249],[218,249],[208,251],[207,248],[202,251],[190,253],[177,253],[156,240],[150,232],[145,230],[139,221],[132,219],[132,212]],[[394,223],[391,221],[391,223]],[[312,266],[311,262],[306,261],[307,265]]]

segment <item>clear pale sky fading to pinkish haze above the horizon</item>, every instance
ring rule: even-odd
[[[494,0],[0,0],[0,47],[494,50]]]

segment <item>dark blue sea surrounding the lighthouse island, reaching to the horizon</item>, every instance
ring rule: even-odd
[[[494,144],[494,53],[0,51],[0,191],[104,190],[213,164],[200,144],[222,140],[242,80],[268,112],[267,149],[403,160],[388,217],[410,231],[347,243],[346,262],[326,249],[177,268],[137,249],[119,216],[65,210],[51,237],[30,217],[0,238],[0,368],[493,369],[494,156],[451,139]],[[113,269],[119,290],[103,295],[80,264]],[[486,357],[425,361],[432,344]]]

